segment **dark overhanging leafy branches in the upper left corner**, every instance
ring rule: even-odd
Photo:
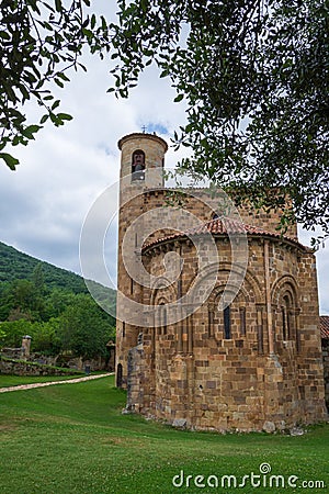
[[[67,72],[86,67],[79,61],[84,46],[91,53],[109,48],[103,16],[89,15],[90,0],[1,0],[0,10],[0,158],[14,169],[19,160],[8,145],[26,145],[49,119],[59,126],[71,115],[59,112],[55,86],[69,81]],[[55,85],[55,86],[54,86]],[[27,122],[22,108],[34,100],[39,122]]]

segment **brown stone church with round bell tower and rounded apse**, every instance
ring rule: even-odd
[[[231,214],[208,189],[172,205],[167,143],[135,133],[118,147],[116,384],[127,409],[217,431],[326,419],[316,261],[296,225],[281,236],[279,212]]]

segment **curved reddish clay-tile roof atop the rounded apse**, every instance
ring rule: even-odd
[[[246,225],[239,220],[228,218],[228,217],[217,217],[215,220],[211,220],[209,222],[203,223],[200,226],[189,228],[185,232],[178,232],[175,234],[168,235],[162,238],[158,238],[156,240],[150,242],[149,244],[146,244],[144,249],[155,246],[158,244],[161,244],[162,242],[168,240],[175,240],[179,238],[184,237],[193,237],[195,235],[204,235],[204,234],[212,234],[212,235],[234,235],[234,234],[249,234],[249,235],[259,235],[259,236],[268,236],[273,237],[277,239],[284,239],[291,243],[296,244],[298,247],[302,247],[302,244],[299,244],[294,238],[282,236],[280,232],[270,232],[263,228],[260,228],[258,226],[251,226]]]

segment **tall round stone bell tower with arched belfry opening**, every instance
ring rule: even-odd
[[[141,303],[143,297],[143,283],[140,283],[138,271],[140,271],[139,251],[144,239],[143,214],[148,209],[146,193],[149,190],[163,189],[164,154],[168,145],[161,137],[146,133],[126,135],[118,141],[117,145],[121,150],[121,186],[117,255],[116,385],[125,388],[128,351],[137,345],[140,326],[143,326],[141,321],[140,324],[136,325],[136,317],[133,317],[135,324],[129,324],[129,321],[134,315],[134,311],[138,312],[138,308],[134,306],[132,308],[133,304],[131,301]]]

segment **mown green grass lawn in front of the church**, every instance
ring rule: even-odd
[[[1,493],[329,492],[329,425],[297,437],[179,431],[122,415],[125,393],[113,385],[111,377],[0,395]],[[263,463],[271,473],[260,474]]]

